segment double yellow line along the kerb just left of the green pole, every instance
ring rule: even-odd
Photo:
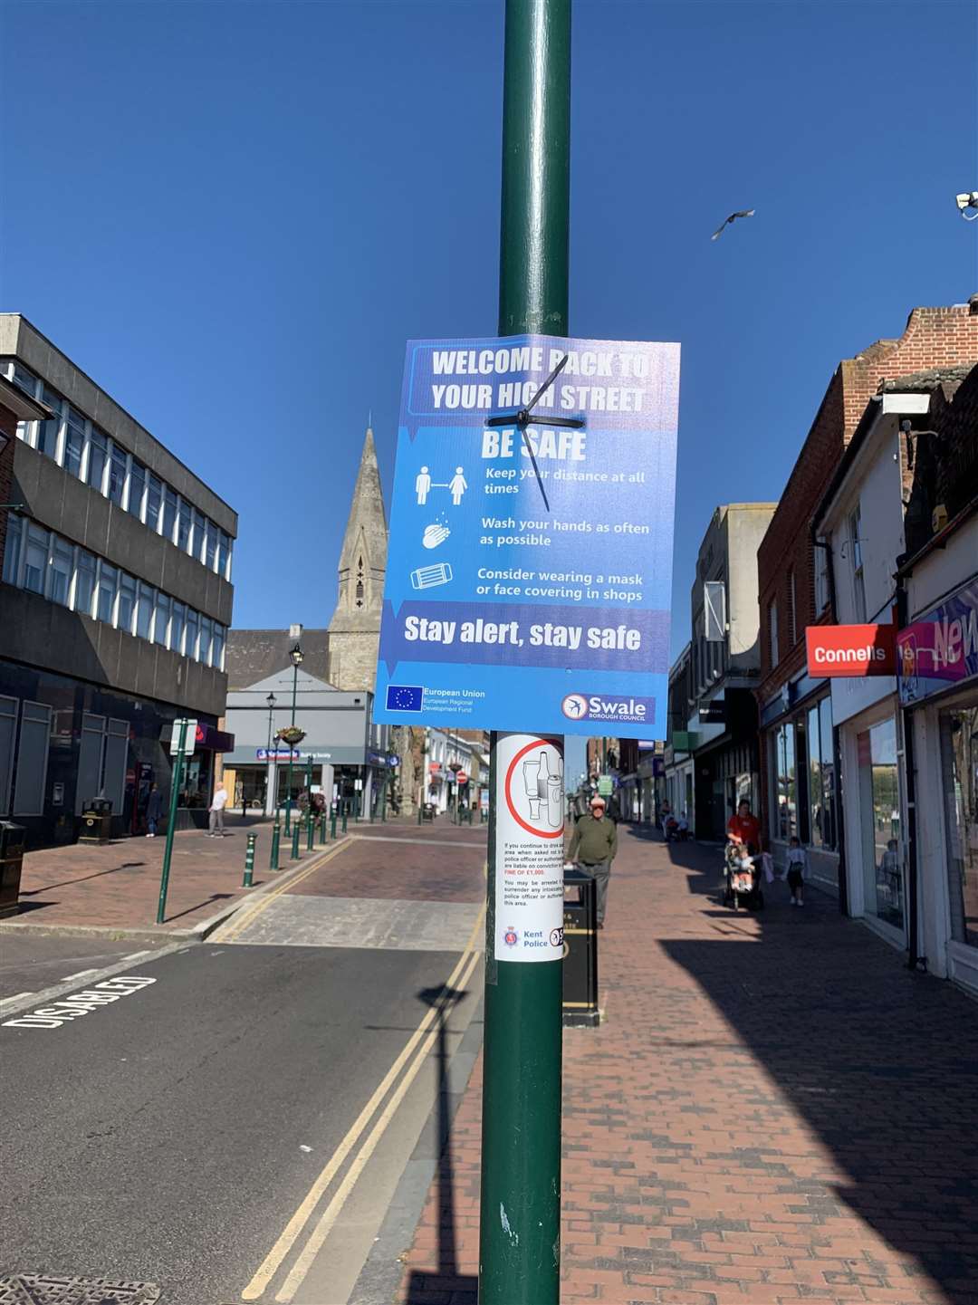
[[[295,880],[292,880],[292,882],[295,882]],[[353,1128],[346,1134],[339,1146],[336,1148],[328,1164],[325,1165],[320,1176],[316,1178],[316,1181],[312,1184],[304,1199],[299,1205],[299,1208],[295,1211],[292,1218],[286,1224],[281,1237],[262,1261],[261,1267],[242,1292],[243,1301],[259,1300],[265,1293],[269,1283],[278,1272],[285,1258],[292,1250],[295,1242],[299,1240],[299,1236],[306,1228],[306,1225],[312,1219],[316,1207],[329,1190],[336,1176],[339,1173],[339,1169],[343,1167],[347,1156],[358,1144],[360,1137],[367,1130],[367,1126],[370,1125],[371,1120],[384,1103],[392,1086],[397,1082],[397,1088],[390,1095],[390,1099],[386,1101],[384,1109],[377,1116],[373,1128],[370,1130],[366,1139],[363,1141],[363,1144],[354,1156],[354,1160],[350,1164],[346,1173],[343,1174],[343,1180],[337,1188],[332,1201],[323,1211],[317,1223],[309,1232],[308,1238],[302,1250],[299,1251],[299,1254],[296,1255],[295,1262],[292,1263],[292,1267],[290,1268],[289,1275],[285,1283],[282,1284],[281,1291],[276,1296],[276,1300],[281,1302],[281,1305],[287,1305],[287,1302],[291,1301],[292,1297],[295,1296],[296,1291],[306,1279],[306,1275],[312,1267],[312,1262],[315,1261],[316,1255],[323,1248],[323,1244],[325,1242],[326,1237],[333,1229],[339,1216],[339,1212],[343,1208],[343,1205],[346,1203],[350,1193],[356,1185],[358,1178],[367,1167],[367,1161],[377,1148],[377,1143],[386,1131],[388,1125],[390,1124],[390,1121],[397,1113],[398,1107],[401,1105],[401,1101],[407,1095],[411,1083],[418,1077],[422,1065],[424,1064],[432,1047],[435,1045],[435,1041],[439,1036],[439,1028],[436,1021],[440,1019],[440,1017],[445,1013],[445,1010],[450,1005],[452,1001],[449,996],[450,989],[465,990],[465,985],[471,979],[475,966],[479,962],[481,949],[478,947],[478,941],[482,934],[484,917],[486,917],[486,907],[483,904],[479,916],[473,927],[473,930],[469,934],[469,941],[465,945],[465,950],[462,951],[462,955],[460,957],[457,966],[454,967],[454,970],[445,981],[445,996],[441,997],[434,1006],[428,1009],[424,1018],[420,1021],[415,1031],[411,1034],[410,1039],[407,1040],[407,1045],[403,1048],[403,1051],[397,1057],[394,1064],[386,1071],[386,1074],[379,1083],[376,1091],[358,1114]],[[407,1064],[407,1061],[411,1058],[413,1054],[414,1060],[411,1061],[410,1066],[407,1067],[407,1070],[403,1073],[403,1075],[400,1078],[398,1082],[398,1075],[401,1074],[401,1070],[403,1069],[403,1066]]]

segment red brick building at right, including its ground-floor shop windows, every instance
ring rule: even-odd
[[[832,706],[828,681],[806,672],[804,630],[834,613],[828,551],[817,547],[812,515],[888,377],[978,360],[974,308],[915,308],[898,339],[877,341],[838,364],[757,552],[763,827],[776,859],[797,834],[810,848],[815,882],[830,891],[838,890],[842,833]],[[849,547],[858,551],[858,521],[853,529]],[[817,792],[810,792],[812,776]]]

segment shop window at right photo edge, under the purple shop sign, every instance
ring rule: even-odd
[[[940,760],[951,936],[978,947],[978,706],[941,711]]]

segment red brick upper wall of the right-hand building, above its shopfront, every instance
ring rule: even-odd
[[[968,304],[915,308],[897,341],[877,341],[840,363],[798,454],[777,512],[757,549],[761,701],[770,698],[804,663],[804,628],[815,621],[815,559],[811,518],[880,382],[928,367],[978,361],[978,315]],[[787,628],[787,577],[794,568],[797,633]],[[770,664],[769,611],[778,607],[778,664]],[[825,613],[832,620],[832,613]]]

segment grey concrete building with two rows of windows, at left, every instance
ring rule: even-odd
[[[149,787],[168,797],[184,715],[201,727],[193,818],[227,744],[236,513],[17,313],[0,315],[0,375],[46,414],[17,425],[4,500],[0,814],[67,842],[104,795],[115,833],[138,831]]]

